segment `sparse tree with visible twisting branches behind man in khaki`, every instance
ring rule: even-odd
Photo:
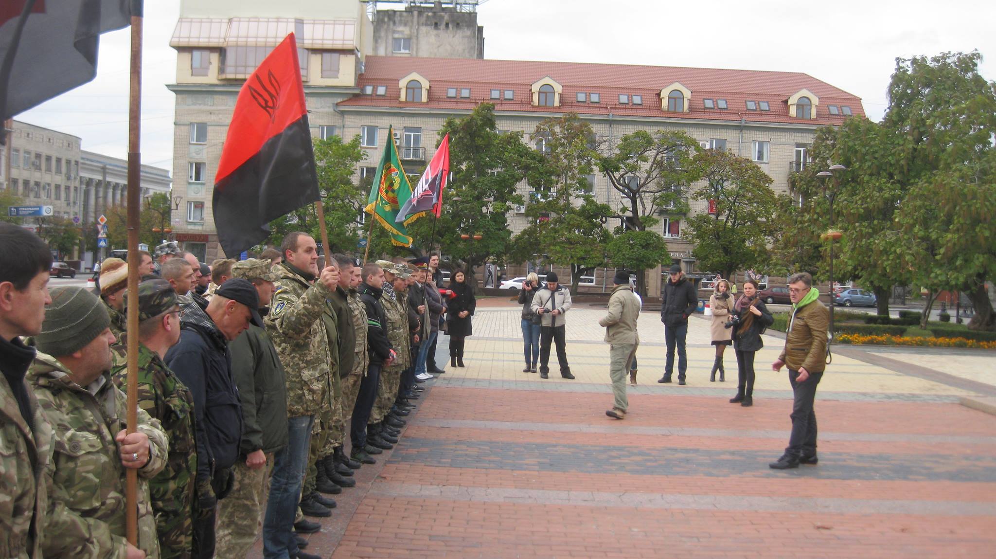
[[[688,212],[685,189],[699,177],[700,169],[693,164],[698,150],[698,141],[683,132],[637,131],[623,136],[610,154],[601,157],[599,166],[621,197],[615,217],[622,226],[617,232],[644,231],[659,223],[660,215]],[[633,269],[637,290],[643,293],[645,269]]]

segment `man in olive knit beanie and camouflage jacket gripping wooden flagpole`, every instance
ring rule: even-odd
[[[111,381],[110,324],[95,295],[58,287],[35,339],[39,353],[28,377],[54,433],[46,557],[159,556],[147,480],[165,466],[168,442],[159,421],[140,408],[137,431],[125,434],[127,398]],[[138,472],[137,549],[124,539],[125,468]]]

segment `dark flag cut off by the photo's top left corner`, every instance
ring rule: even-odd
[[[93,80],[100,35],[131,11],[130,0],[0,0],[0,121]]]

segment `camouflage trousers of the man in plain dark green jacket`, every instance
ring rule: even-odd
[[[240,459],[233,470],[232,492],[218,501],[215,557],[245,557],[259,537],[270,492],[273,453],[266,455],[263,467],[253,469]]]

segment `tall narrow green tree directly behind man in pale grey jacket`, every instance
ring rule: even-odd
[[[537,190],[526,206],[530,225],[516,237],[522,260],[542,251],[549,263],[569,266],[575,295],[579,278],[605,264],[611,238],[604,220],[612,208],[587,193],[599,155],[595,138],[591,125],[574,113],[537,125],[532,140],[544,142],[543,155],[527,172]]]

